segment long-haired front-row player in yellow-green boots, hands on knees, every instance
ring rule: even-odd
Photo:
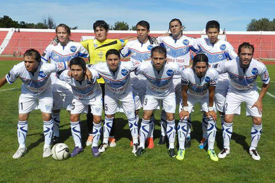
[[[208,58],[205,54],[196,54],[192,68],[184,69],[181,75],[182,103],[179,106],[179,123],[177,127],[179,150],[176,159],[184,159],[184,142],[187,136],[187,119],[194,107],[199,102],[204,115],[207,116],[208,155],[212,161],[218,161],[214,152],[216,134],[216,113],[213,110],[215,86],[218,73],[213,68],[208,68]]]

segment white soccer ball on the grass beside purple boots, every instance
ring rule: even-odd
[[[54,160],[65,160],[69,156],[68,146],[63,143],[55,144],[51,149],[51,154]]]

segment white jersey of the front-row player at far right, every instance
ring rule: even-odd
[[[229,77],[229,90],[231,91],[257,91],[256,78],[259,75],[264,84],[269,83],[268,71],[263,63],[251,60],[248,68],[239,65],[239,58],[221,62],[217,67],[218,73],[227,72]]]

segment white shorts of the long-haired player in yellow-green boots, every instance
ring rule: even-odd
[[[188,113],[190,114],[194,108],[195,103],[200,103],[201,111],[208,112],[208,102],[209,97],[205,96],[203,98],[197,98],[192,95],[187,94],[187,105],[188,105]],[[182,111],[182,100],[180,100],[180,105],[178,111]]]

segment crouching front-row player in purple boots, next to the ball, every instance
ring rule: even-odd
[[[69,67],[72,78],[68,76],[68,70],[63,71],[59,78],[71,86],[74,96],[71,103],[70,127],[75,148],[71,153],[71,157],[83,151],[79,120],[81,113],[88,112],[88,107],[90,107],[93,114],[91,153],[94,157],[98,157],[100,153],[98,152],[97,144],[101,134],[102,113],[102,92],[96,81],[99,76],[95,70],[88,68],[92,73],[92,79],[89,81],[84,78],[87,68],[85,61],[81,57],[71,59]]]

